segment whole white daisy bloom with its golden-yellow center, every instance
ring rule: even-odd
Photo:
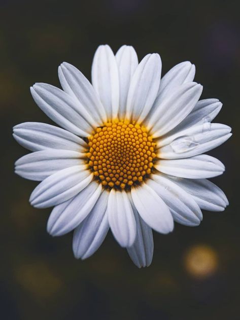
[[[174,221],[197,226],[201,209],[224,210],[226,196],[206,179],[224,165],[203,153],[227,140],[231,128],[211,123],[222,103],[199,100],[193,64],[179,63],[160,80],[158,54],[139,63],[132,47],[114,55],[105,45],[95,53],[92,84],[66,62],[58,75],[63,90],[37,83],[31,94],[63,129],[15,126],[15,139],[33,151],[16,162],[16,173],[41,181],[30,203],[54,206],[47,230],[74,230],[76,258],[91,256],[111,228],[133,262],[149,266],[152,229],[166,234]]]

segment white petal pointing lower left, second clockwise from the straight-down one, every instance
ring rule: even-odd
[[[56,205],[48,219],[48,232],[60,236],[75,229],[93,208],[101,188],[101,184],[92,182],[75,197]]]

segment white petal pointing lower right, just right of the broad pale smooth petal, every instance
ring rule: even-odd
[[[189,194],[163,175],[152,174],[147,184],[168,205],[174,220],[182,218],[182,224],[198,226],[202,220],[202,213]]]

